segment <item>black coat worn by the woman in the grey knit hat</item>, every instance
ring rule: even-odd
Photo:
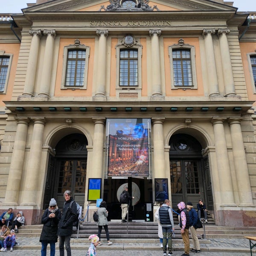
[[[58,222],[61,219],[61,211],[58,209],[55,212],[55,218],[49,218],[49,214],[51,212],[49,209],[46,209],[44,211],[44,214],[42,216],[41,223],[44,224],[41,236],[40,236],[40,242],[41,241],[58,241],[57,231],[58,231]]]

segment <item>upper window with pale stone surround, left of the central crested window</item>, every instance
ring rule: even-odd
[[[87,88],[90,47],[84,45],[64,47],[64,68],[61,89]]]

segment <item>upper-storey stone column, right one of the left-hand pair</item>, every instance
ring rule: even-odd
[[[45,50],[44,50],[44,63],[42,67],[42,77],[40,84],[40,92],[39,96],[46,97],[47,99],[50,97],[49,89],[52,75],[52,57],[53,57],[53,49],[54,49],[54,39],[56,38],[55,30],[44,30],[44,35],[47,36]]]

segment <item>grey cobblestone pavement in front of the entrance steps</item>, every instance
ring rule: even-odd
[[[158,239],[157,239],[158,241]],[[12,256],[41,256],[41,243],[38,237],[20,237],[17,239],[19,245],[14,247],[14,251],[9,249],[3,255]],[[121,243],[119,239],[113,239],[113,244],[108,246],[106,241],[102,241],[103,245],[98,247],[97,256],[163,256],[163,249],[160,244],[153,243]],[[173,239],[173,255],[180,256],[184,250],[184,244],[181,239]],[[87,239],[71,239],[70,241],[73,255],[84,256],[89,247]],[[205,239],[200,240],[202,256],[248,256],[250,255],[248,239]],[[192,248],[192,244],[191,244]],[[49,245],[47,247],[47,255],[49,255]],[[65,251],[66,255],[66,251]],[[195,253],[190,253],[190,256]],[[253,250],[256,256],[256,249]],[[59,256],[58,243],[56,243],[55,256]]]

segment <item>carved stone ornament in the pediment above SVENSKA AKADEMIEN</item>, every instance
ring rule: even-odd
[[[151,6],[148,5],[149,0],[109,0],[110,4],[105,8],[104,6],[101,6],[99,11],[104,9],[106,12],[113,12],[113,11],[128,11],[128,12],[152,12],[154,9],[157,11],[160,11],[157,6]]]

